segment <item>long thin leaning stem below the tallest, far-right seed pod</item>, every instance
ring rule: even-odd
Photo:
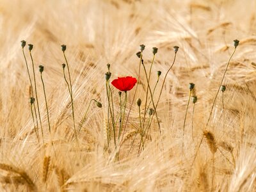
[[[232,52],[232,54],[231,54],[231,56],[230,56],[230,58],[229,58],[229,60],[228,60],[227,67],[225,68],[225,72],[224,72],[224,74],[223,74],[223,76],[222,76],[220,85],[219,85],[219,87],[218,87],[218,91],[217,91],[217,93],[216,93],[216,95],[215,95],[215,97],[214,97],[214,100],[213,100],[213,103],[212,103],[212,108],[211,108],[211,113],[210,113],[210,115],[209,115],[209,118],[208,118],[208,120],[207,120],[207,123],[206,123],[206,125],[205,125],[205,127],[204,127],[203,132],[205,131],[205,129],[207,129],[207,126],[208,126],[208,124],[209,124],[209,121],[210,121],[210,118],[211,118],[211,115],[212,115],[212,110],[213,110],[214,105],[215,105],[215,102],[216,102],[216,98],[217,98],[217,96],[218,96],[218,93],[220,92],[221,84],[223,83],[225,74],[226,74],[226,72],[227,72],[227,70],[228,70],[228,65],[229,65],[230,60],[231,60],[231,58],[232,58],[232,56],[234,55],[235,52],[236,52],[236,47],[235,47],[234,51]],[[203,141],[203,140],[204,140],[204,133],[202,134],[202,137],[201,137],[201,139],[200,139],[198,148],[197,148],[197,150],[196,150],[196,154],[195,154],[195,157],[194,157],[194,159],[193,159],[193,164],[195,163],[196,156],[197,156],[197,154],[198,154],[199,148],[200,148],[201,145],[202,145],[202,141]]]

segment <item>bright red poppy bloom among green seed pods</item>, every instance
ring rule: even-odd
[[[117,79],[114,79],[111,84],[115,86],[118,90],[121,92],[126,92],[131,90],[134,85],[137,83],[137,79],[134,77],[117,77]]]

